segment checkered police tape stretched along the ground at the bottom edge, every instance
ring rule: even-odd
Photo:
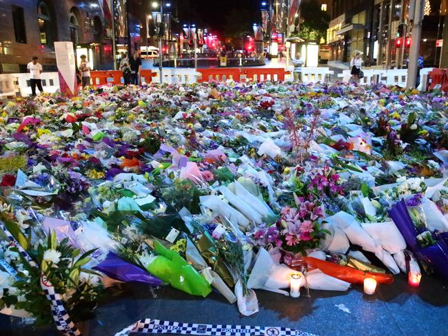
[[[159,319],[141,319],[116,333],[179,334],[199,336],[315,336],[301,330],[272,326],[232,326],[230,324],[194,324]]]

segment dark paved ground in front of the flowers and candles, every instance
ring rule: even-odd
[[[345,293],[311,291],[311,297],[302,293],[297,299],[257,291],[260,312],[252,317],[242,317],[236,305],[227,304],[215,293],[206,299],[172,288],[156,293],[154,299],[146,286],[128,286],[124,293],[101,304],[84,335],[114,335],[148,317],[201,324],[287,326],[320,336],[448,335],[448,284],[425,275],[419,288],[411,288],[407,277],[399,275],[394,284],[379,286],[372,297],[363,295],[358,285]],[[336,307],[340,304],[350,313]],[[47,330],[18,330],[8,318],[0,319],[0,330],[0,335],[56,335]]]

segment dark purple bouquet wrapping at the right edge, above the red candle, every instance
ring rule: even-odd
[[[448,235],[442,233],[436,244],[420,248],[416,238],[417,230],[407,212],[406,203],[403,199],[389,210],[389,216],[394,220],[398,231],[405,238],[407,247],[416,254],[417,258],[433,266],[437,273],[448,280]]]

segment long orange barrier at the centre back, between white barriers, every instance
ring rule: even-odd
[[[212,69],[196,69],[196,72],[201,73],[201,78],[198,78],[198,83],[208,81],[226,81],[233,79],[236,82],[241,81],[241,75],[245,75],[252,81],[285,81],[285,75],[291,72],[285,71],[281,67],[226,67],[226,68],[212,68]]]

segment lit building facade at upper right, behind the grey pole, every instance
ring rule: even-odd
[[[372,65],[406,67],[411,45],[409,0],[333,0],[327,31],[332,61],[348,62],[364,53]],[[438,66],[442,53],[446,0],[425,0],[420,55]]]

